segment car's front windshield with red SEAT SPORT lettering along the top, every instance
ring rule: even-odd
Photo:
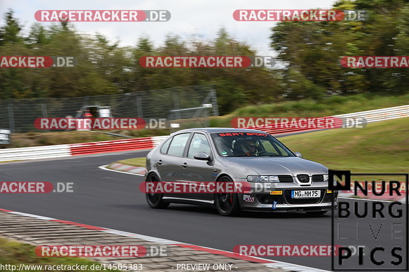
[[[212,139],[223,157],[294,157],[284,144],[268,133],[212,133]]]

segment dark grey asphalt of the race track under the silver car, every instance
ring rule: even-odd
[[[304,213],[243,212],[240,217],[224,217],[215,209],[176,204],[156,210],[147,206],[145,195],[139,191],[143,177],[98,168],[147,153],[144,150],[0,164],[1,181],[75,184],[71,193],[2,193],[0,208],[226,251],[233,251],[238,244],[331,244],[330,213],[310,217]],[[343,235],[354,235],[355,222],[350,221],[351,228],[345,229]],[[394,243],[388,228],[380,232],[377,244]],[[330,257],[265,258],[331,269]]]

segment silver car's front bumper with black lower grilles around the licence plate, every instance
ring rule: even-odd
[[[256,187],[245,193],[239,193],[239,203],[242,210],[258,210],[271,212],[293,211],[328,211],[332,209],[332,195],[334,194],[334,208],[337,207],[338,192],[328,191],[328,184],[311,184],[299,186],[297,184],[276,184],[272,189],[260,192]],[[293,199],[291,190],[321,190],[320,197],[308,199]],[[275,194],[271,194],[274,191]],[[275,209],[273,203],[277,202]]]

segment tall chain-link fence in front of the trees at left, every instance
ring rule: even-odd
[[[76,116],[85,107],[110,107],[112,117],[168,118],[169,111],[212,104],[218,115],[214,85],[174,87],[132,93],[68,98],[33,98],[0,101],[0,128],[12,133],[35,131],[41,117]]]

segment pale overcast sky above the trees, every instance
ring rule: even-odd
[[[0,23],[3,15],[13,9],[15,16],[25,25],[25,30],[35,21],[37,10],[168,10],[167,22],[74,22],[81,33],[99,32],[121,45],[134,45],[138,37],[147,34],[156,46],[163,44],[165,35],[173,33],[188,40],[192,36],[209,40],[221,27],[237,40],[245,41],[259,55],[274,55],[269,48],[270,28],[275,22],[236,21],[237,9],[329,9],[333,0],[0,0]],[[49,26],[51,22],[41,22]]]

